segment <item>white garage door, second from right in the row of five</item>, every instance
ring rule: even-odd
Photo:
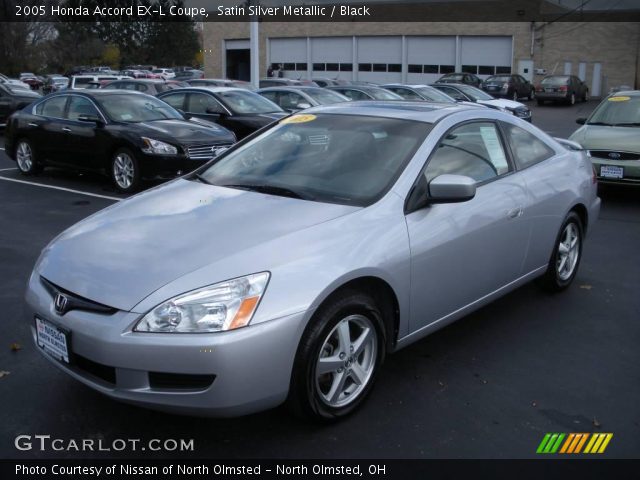
[[[407,37],[407,83],[433,83],[456,68],[456,37]]]

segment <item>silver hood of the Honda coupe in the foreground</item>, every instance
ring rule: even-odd
[[[45,248],[36,271],[131,311],[183,275],[358,209],[178,179],[69,228]]]

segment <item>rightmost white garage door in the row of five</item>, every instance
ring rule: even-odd
[[[511,73],[512,47],[511,37],[460,37],[460,68],[480,78]]]

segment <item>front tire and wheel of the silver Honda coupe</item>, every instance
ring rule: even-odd
[[[370,393],[385,356],[380,308],[367,294],[345,291],[311,320],[298,347],[289,405],[330,422],[355,411]]]

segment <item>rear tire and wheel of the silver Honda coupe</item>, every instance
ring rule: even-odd
[[[583,238],[580,217],[576,212],[569,212],[560,227],[547,271],[540,278],[540,285],[545,290],[560,292],[571,285],[582,258]]]

